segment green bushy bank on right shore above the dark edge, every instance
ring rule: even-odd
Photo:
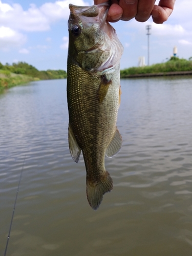
[[[171,57],[164,63],[154,64],[145,67],[132,67],[129,69],[121,70],[121,78],[129,77],[136,74],[151,74],[161,72],[174,72],[174,71],[191,71],[192,70],[192,57],[189,60],[180,59],[178,57]]]

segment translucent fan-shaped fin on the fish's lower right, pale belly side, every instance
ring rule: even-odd
[[[120,151],[121,146],[122,146],[122,137],[116,127],[114,137],[111,140],[108,148],[106,149],[105,156],[112,158]]]

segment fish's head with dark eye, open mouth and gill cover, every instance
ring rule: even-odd
[[[118,51],[120,54],[112,53],[114,50],[112,45],[116,44],[115,41],[118,41],[118,44],[120,42],[115,29],[106,22],[109,4],[103,3],[87,7],[70,4],[69,8],[68,59],[70,55],[70,58],[79,67],[93,73],[113,67],[117,62],[117,58],[114,59],[113,56],[121,57],[122,46]]]

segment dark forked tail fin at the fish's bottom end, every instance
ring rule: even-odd
[[[107,171],[102,179],[96,184],[89,182],[87,179],[87,198],[90,206],[94,210],[97,210],[101,204],[103,195],[107,192],[110,192],[112,189],[113,180]]]

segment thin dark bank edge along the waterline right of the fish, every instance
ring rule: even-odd
[[[157,77],[157,76],[181,76],[181,75],[192,75],[190,71],[172,71],[172,72],[160,72],[160,73],[146,73],[146,74],[134,74],[134,75],[123,75],[121,78],[139,78],[139,77]]]

